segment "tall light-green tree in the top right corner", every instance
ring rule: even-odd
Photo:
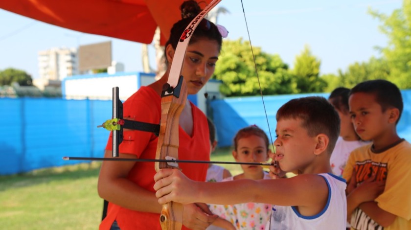
[[[388,80],[401,89],[411,88],[411,0],[403,0],[401,9],[390,16],[369,9],[382,22],[380,30],[388,36],[388,46],[380,47],[388,62]]]

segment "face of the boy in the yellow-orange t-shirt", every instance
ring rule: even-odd
[[[350,115],[355,132],[363,140],[374,140],[386,133],[389,112],[383,112],[374,93],[356,92],[349,97]]]

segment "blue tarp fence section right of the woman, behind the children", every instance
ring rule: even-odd
[[[404,90],[401,93],[404,111],[397,124],[397,131],[401,138],[411,142],[411,90]],[[287,101],[303,96],[328,98],[329,93],[264,96],[264,103],[261,96],[210,101],[211,114],[217,130],[218,146],[231,146],[232,138],[239,129],[254,124],[263,129],[269,135],[269,138],[271,133],[274,141],[277,110]],[[264,114],[264,105],[267,118]],[[319,111],[319,113],[321,112]]]

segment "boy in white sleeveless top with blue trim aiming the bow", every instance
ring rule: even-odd
[[[323,97],[293,99],[278,110],[276,119],[275,160],[297,176],[203,183],[165,169],[154,176],[159,203],[268,203],[273,213],[266,229],[345,229],[346,184],[331,173],[329,163],[340,132],[334,107]]]

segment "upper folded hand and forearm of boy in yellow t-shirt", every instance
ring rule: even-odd
[[[359,203],[374,201],[385,188],[385,181],[375,181],[376,174],[373,173],[371,177],[359,184],[353,191],[355,199]]]

